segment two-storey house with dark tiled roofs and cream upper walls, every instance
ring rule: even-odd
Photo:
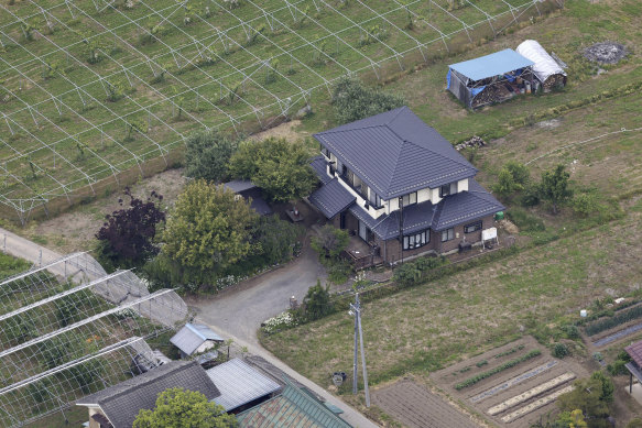
[[[504,207],[437,131],[402,107],[314,135],[322,187],[309,201],[384,263],[478,243]],[[403,252],[403,254],[402,254]]]

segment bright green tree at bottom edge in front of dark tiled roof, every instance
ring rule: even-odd
[[[233,415],[208,402],[199,392],[170,388],[159,394],[153,410],[141,409],[133,428],[233,428],[238,426]]]

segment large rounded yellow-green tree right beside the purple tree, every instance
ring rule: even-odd
[[[247,256],[257,213],[243,198],[203,179],[189,183],[167,219],[162,253],[194,281]]]

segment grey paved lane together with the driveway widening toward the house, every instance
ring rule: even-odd
[[[62,256],[1,228],[0,248],[35,265],[45,265]],[[53,273],[64,275],[62,271]],[[191,301],[191,304],[199,311],[197,318],[202,322],[209,325],[222,337],[231,338],[241,347],[247,347],[250,353],[263,356],[311,391],[325,397],[328,403],[344,409],[342,417],[350,425],[357,428],[376,428],[377,425],[359,411],[290,369],[258,343],[257,329],[260,323],[286,309],[291,296],[295,296],[301,301],[307,288],[316,284],[317,277],[325,278],[325,272],[317,263],[314,251],[306,248],[298,260],[282,268],[247,281],[231,290],[219,294],[216,298]]]

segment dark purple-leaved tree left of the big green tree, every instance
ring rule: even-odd
[[[106,268],[134,267],[159,253],[154,245],[156,227],[165,220],[165,212],[159,202],[163,196],[152,191],[146,200],[135,198],[129,188],[126,208],[113,211],[106,217],[102,228],[96,233],[98,239],[98,259]],[[124,207],[124,200],[118,202]]]

